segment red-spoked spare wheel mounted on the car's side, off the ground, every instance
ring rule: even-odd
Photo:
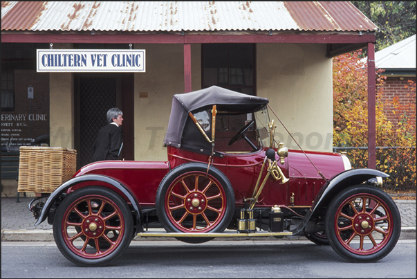
[[[167,232],[219,233],[230,224],[234,193],[229,179],[214,166],[185,163],[171,170],[156,192],[158,219]],[[201,243],[206,238],[180,238]],[[208,239],[210,240],[210,239]]]

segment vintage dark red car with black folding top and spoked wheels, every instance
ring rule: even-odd
[[[44,203],[30,203],[36,224],[48,218],[62,254],[85,266],[109,264],[134,237],[148,236],[201,243],[304,235],[349,261],[386,256],[401,227],[380,188],[389,176],[351,169],[343,154],[275,143],[270,109],[266,98],[215,86],[176,94],[168,161],[86,165]],[[234,134],[225,123],[242,128]]]

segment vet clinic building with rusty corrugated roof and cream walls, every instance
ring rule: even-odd
[[[331,57],[372,55],[378,29],[349,2],[1,3],[2,151],[71,148],[78,168],[110,107],[124,112],[122,159],[165,161],[172,96],[211,85],[268,98],[303,148],[331,151]],[[37,71],[50,48],[143,50],[146,69]],[[297,148],[282,127],[276,137]]]

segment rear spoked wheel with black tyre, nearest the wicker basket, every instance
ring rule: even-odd
[[[126,202],[112,190],[81,188],[59,205],[53,222],[59,251],[82,266],[104,266],[129,246],[133,218]]]

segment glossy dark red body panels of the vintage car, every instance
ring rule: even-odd
[[[219,168],[230,180],[234,189],[236,206],[243,206],[243,199],[252,197],[254,186],[261,171],[264,150],[246,154],[225,154],[214,156],[213,165]],[[160,181],[169,168],[187,162],[207,163],[209,156],[168,146],[168,161],[102,161],[86,165],[75,174],[104,174],[118,179],[136,195],[141,206],[155,206],[156,191]],[[324,152],[306,152],[316,167],[330,179],[344,170],[340,154]],[[278,158],[277,158],[278,159]],[[288,172],[289,165],[289,172]],[[311,206],[313,199],[324,185],[325,181],[311,165],[306,156],[298,150],[289,150],[284,165],[278,163],[284,175],[290,179],[288,183],[268,179],[259,197],[257,206],[270,207],[275,204],[288,206]],[[262,177],[266,175],[266,165]],[[290,197],[294,193],[294,204]]]

